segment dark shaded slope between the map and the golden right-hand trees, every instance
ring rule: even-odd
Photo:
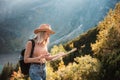
[[[90,45],[91,43],[95,43],[98,32],[99,30],[97,27],[92,28],[87,32],[81,34],[79,37],[74,38],[73,40],[63,44],[64,48],[67,51],[71,50],[72,48],[77,48],[77,51],[74,54],[70,54],[63,59],[65,64],[68,64],[68,62],[73,62],[74,58],[80,55],[93,55]]]

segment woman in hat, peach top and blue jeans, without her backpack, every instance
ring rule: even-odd
[[[39,28],[34,30],[36,37],[34,38],[35,47],[32,58],[30,58],[30,51],[32,48],[32,42],[28,41],[26,44],[26,51],[24,62],[31,63],[29,75],[31,80],[46,80],[46,68],[45,62],[59,58],[64,55],[60,52],[57,55],[51,56],[48,52],[47,45],[49,43],[49,37],[55,32],[51,29],[49,24],[42,24]]]

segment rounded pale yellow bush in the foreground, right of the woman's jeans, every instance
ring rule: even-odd
[[[68,66],[65,66],[64,62],[61,61],[58,71],[48,72],[48,77],[52,78],[51,74],[56,74],[54,80],[99,80],[101,69],[99,60],[86,55],[75,58],[75,61]]]

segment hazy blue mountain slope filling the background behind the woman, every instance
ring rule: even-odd
[[[50,46],[71,40],[95,26],[118,1],[0,0],[0,53],[20,51],[42,23],[56,32]]]

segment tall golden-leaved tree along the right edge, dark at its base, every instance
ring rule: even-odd
[[[94,55],[102,62],[101,80],[120,79],[120,3],[98,24],[99,34],[91,44]]]

